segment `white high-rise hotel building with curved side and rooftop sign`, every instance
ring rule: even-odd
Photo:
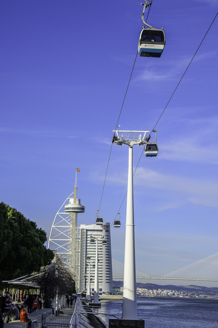
[[[80,266],[79,266],[79,290],[87,290],[89,266],[85,266],[87,256],[90,256],[90,275],[91,277],[91,292],[94,291],[95,281],[95,256],[96,245],[90,244],[90,236],[94,236],[98,239],[98,267],[99,267],[99,294],[112,293],[113,292],[113,275],[112,275],[112,261],[111,261],[111,235],[110,235],[110,223],[103,223],[100,225],[80,225]],[[104,235],[104,240],[107,240],[107,244],[102,244],[100,238]],[[92,263],[93,262],[93,263]]]

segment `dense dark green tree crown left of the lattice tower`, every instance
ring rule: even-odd
[[[46,233],[15,208],[0,203],[0,281],[39,271],[54,254],[44,246]]]

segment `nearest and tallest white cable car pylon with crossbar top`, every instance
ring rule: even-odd
[[[113,142],[129,146],[129,168],[126,204],[126,236],[123,276],[123,312],[122,319],[137,320],[136,302],[136,259],[135,259],[135,224],[133,203],[133,146],[144,145],[149,131],[118,131],[115,130]],[[116,135],[115,135],[116,133]]]

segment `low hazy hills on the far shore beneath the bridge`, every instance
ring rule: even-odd
[[[123,287],[123,281],[113,281],[114,287]],[[176,291],[187,291],[187,292],[203,292],[205,294],[218,294],[218,287],[205,287],[205,286],[175,286],[175,285],[157,285],[157,284],[143,284],[141,282],[136,282],[137,288],[146,289],[171,289]]]

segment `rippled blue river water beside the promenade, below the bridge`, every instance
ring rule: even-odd
[[[108,327],[108,316],[122,317],[122,301],[101,301],[101,309],[94,310]],[[146,328],[218,328],[218,300],[196,298],[138,298],[138,319]]]

